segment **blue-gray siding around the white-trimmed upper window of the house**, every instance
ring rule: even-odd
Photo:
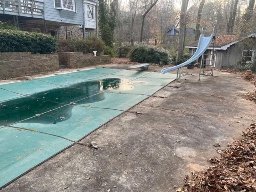
[[[83,24],[83,2],[76,0],[76,12],[54,8],[54,0],[44,0],[45,20],[67,24]]]

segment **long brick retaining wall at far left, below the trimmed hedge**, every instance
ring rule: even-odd
[[[59,68],[59,58],[57,53],[0,53],[0,79],[56,71],[59,70]]]

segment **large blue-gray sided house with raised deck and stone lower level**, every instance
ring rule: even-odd
[[[0,21],[57,39],[96,32],[97,0],[0,0]]]

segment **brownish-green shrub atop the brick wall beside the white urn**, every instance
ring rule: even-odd
[[[81,40],[70,39],[60,40],[58,42],[58,51],[60,52],[93,53],[93,51],[97,51],[97,55],[99,55],[104,48],[105,45],[102,40],[95,36],[87,37]]]

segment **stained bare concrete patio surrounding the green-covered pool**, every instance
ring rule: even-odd
[[[208,167],[207,159],[218,156],[214,144],[224,148],[256,120],[256,105],[241,96],[254,90],[250,82],[225,72],[201,76],[201,81],[198,70],[184,68],[182,73],[180,82],[172,82],[81,140],[101,150],[75,144],[2,192],[175,191],[172,186],[182,186],[186,174]],[[31,77],[37,76],[26,78]],[[0,81],[6,82],[10,80]]]

